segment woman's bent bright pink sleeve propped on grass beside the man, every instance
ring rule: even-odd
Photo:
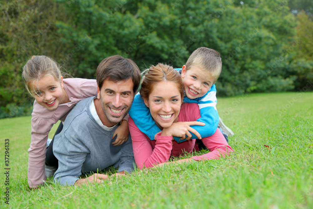
[[[139,169],[149,168],[168,161],[172,151],[172,137],[156,136],[156,145],[152,148],[147,136],[142,133],[130,117],[128,120],[129,132],[133,146],[134,158]]]

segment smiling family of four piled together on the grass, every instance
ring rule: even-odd
[[[63,79],[54,60],[33,56],[22,74],[35,99],[29,187],[38,188],[51,175],[61,185],[101,183],[131,173],[134,166],[161,166],[200,148],[209,152],[171,163],[230,154],[227,134],[233,133],[216,109],[214,83],[221,69],[219,53],[206,47],[195,50],[180,69],[159,63],[142,78],[135,62],[119,55],[100,62],[96,80]],[[118,169],[110,177],[98,173],[110,166]],[[82,174],[93,175],[80,178]]]

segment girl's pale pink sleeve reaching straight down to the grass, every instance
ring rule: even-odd
[[[32,114],[31,142],[28,149],[28,186],[37,188],[46,180],[44,164],[46,159],[46,144],[49,131],[54,121],[49,118],[41,118],[38,114]]]

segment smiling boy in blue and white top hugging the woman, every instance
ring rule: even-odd
[[[205,123],[205,126],[191,126],[201,137],[208,137],[215,133],[218,127],[219,117],[216,109],[216,88],[214,83],[222,70],[222,60],[220,54],[212,49],[201,47],[192,52],[186,65],[181,69],[176,69],[181,73],[186,96],[183,102],[198,103],[201,118],[197,121]],[[135,111],[136,110],[136,111]],[[145,133],[150,140],[154,140],[154,135],[161,131],[153,122],[149,109],[144,104],[140,94],[136,94],[130,111],[128,112],[134,120],[136,126]],[[233,135],[220,120],[220,126],[225,132]],[[223,131],[224,131],[223,130]],[[191,138],[197,138],[193,133]],[[174,137],[177,142],[182,142],[178,137]]]

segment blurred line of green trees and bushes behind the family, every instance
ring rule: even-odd
[[[218,96],[313,87],[311,0],[0,2],[0,118],[31,112],[21,73],[32,55],[95,78],[111,55],[141,70],[158,62],[182,67],[205,46],[222,57]]]

